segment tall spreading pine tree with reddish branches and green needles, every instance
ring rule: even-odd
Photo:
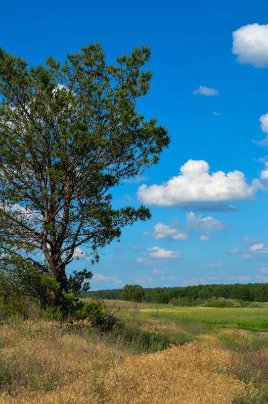
[[[67,292],[65,269],[80,246],[95,262],[123,226],[150,218],[144,206],[113,209],[111,195],[169,143],[167,130],[136,110],[149,89],[149,57],[136,47],[107,65],[90,44],[63,64],[48,57],[33,67],[0,49],[2,262],[30,262]]]

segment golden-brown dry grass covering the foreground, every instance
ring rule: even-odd
[[[258,359],[191,342],[138,356],[46,321],[2,325],[0,338],[0,404],[265,402],[243,401],[258,394],[243,364],[265,379],[264,350]]]

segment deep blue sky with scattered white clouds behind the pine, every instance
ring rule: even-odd
[[[92,289],[267,282],[268,142],[257,143],[268,132],[267,3],[2,0],[0,11],[0,45],[32,64],[88,42],[101,42],[108,62],[151,46],[138,107],[171,142],[143,178],[114,190],[114,207],[143,202],[153,216],[102,251]],[[84,255],[74,262],[86,265]]]

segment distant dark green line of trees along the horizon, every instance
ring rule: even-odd
[[[201,302],[213,296],[244,301],[268,301],[268,283],[212,284],[155,288],[143,288],[140,285],[125,285],[123,289],[106,289],[81,294],[81,297],[102,297],[104,299],[157,303],[168,303],[174,298],[187,298],[191,301]]]

